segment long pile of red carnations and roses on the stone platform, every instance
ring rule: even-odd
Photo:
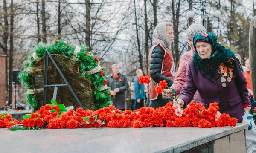
[[[61,108],[60,108],[61,105]],[[24,116],[23,124],[27,129],[38,128],[81,128],[81,127],[224,127],[236,126],[237,119],[231,118],[228,114],[221,114],[218,111],[217,103],[211,103],[206,109],[200,103],[190,103],[184,110],[177,103],[169,102],[164,107],[153,109],[152,107],[141,107],[139,110],[121,111],[113,105],[92,111],[78,108],[76,111],[64,111],[63,104],[47,104],[40,107],[30,115]],[[4,126],[1,121],[4,121]],[[12,118],[7,115],[0,119],[0,127],[9,128]],[[7,124],[8,125],[7,125]],[[14,126],[15,127],[15,126]],[[13,128],[13,127],[12,127]],[[17,130],[17,129],[16,129]]]

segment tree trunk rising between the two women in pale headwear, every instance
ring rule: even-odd
[[[176,11],[175,11],[176,8]],[[180,0],[177,0],[175,4],[175,0],[172,0],[172,20],[173,20],[173,33],[174,33],[174,61],[175,65],[177,65],[178,61],[180,60],[179,54],[179,17],[180,17]]]

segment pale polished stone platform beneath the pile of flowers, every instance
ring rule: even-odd
[[[245,153],[236,127],[0,129],[1,153]]]

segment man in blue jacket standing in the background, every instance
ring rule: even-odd
[[[145,92],[144,85],[139,84],[138,78],[143,75],[141,69],[136,70],[136,76],[132,79],[134,83],[134,99],[136,100],[135,110],[140,109],[140,107],[144,106],[145,102]]]

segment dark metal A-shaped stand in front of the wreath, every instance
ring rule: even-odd
[[[47,76],[48,76],[48,58],[50,58],[50,60],[52,61],[52,63],[54,64],[54,66],[56,67],[56,69],[58,70],[58,72],[60,73],[61,77],[63,78],[63,80],[65,81],[66,84],[47,84]],[[76,101],[78,102],[78,104],[85,110],[84,105],[81,103],[81,101],[79,100],[79,98],[77,97],[76,93],[74,92],[74,90],[72,89],[72,87],[70,86],[70,84],[68,83],[67,79],[65,78],[65,76],[63,75],[63,73],[61,72],[61,69],[58,67],[58,65],[56,64],[55,60],[52,58],[52,55],[49,53],[49,51],[46,49],[45,50],[45,56],[44,56],[44,92],[43,92],[43,106],[46,104],[46,95],[47,95],[47,87],[54,87],[54,92],[53,92],[53,100],[56,100],[56,96],[57,96],[57,91],[58,91],[58,87],[63,87],[63,86],[67,86],[69,87],[70,91],[72,92],[72,94],[74,95],[74,97],[76,98]]]

